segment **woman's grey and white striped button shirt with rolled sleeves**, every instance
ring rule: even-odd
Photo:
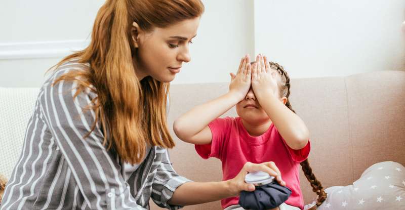
[[[182,207],[167,201],[190,180],[174,171],[167,149],[152,147],[126,180],[124,162],[102,145],[100,122],[83,138],[95,120],[94,112],[83,108],[97,95],[87,91],[74,98],[75,82],[52,83],[63,73],[86,68],[67,62],[44,83],[0,210],[149,209],[150,198],[161,207]]]

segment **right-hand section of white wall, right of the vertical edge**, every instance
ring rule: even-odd
[[[255,53],[291,77],[405,70],[403,0],[256,0]]]

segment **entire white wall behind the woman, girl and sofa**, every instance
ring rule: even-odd
[[[292,77],[405,70],[403,0],[203,0],[192,60],[173,83],[229,81],[244,54]],[[102,0],[0,2],[0,87],[39,87],[69,49],[86,45]]]

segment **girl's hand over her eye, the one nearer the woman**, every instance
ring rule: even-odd
[[[250,65],[250,57],[246,55],[240,60],[239,68],[236,75],[230,73],[231,83],[229,92],[234,94],[238,102],[243,100],[248,94],[252,80],[252,66]]]

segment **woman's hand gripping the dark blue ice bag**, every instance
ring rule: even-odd
[[[246,183],[245,176],[248,173],[258,171],[268,173],[270,176],[275,177],[281,186],[286,186],[286,182],[281,179],[281,173],[274,162],[263,162],[259,164],[247,162],[245,163],[244,167],[242,167],[239,174],[233,179],[229,180],[231,194],[234,196],[239,196],[241,191],[255,191],[255,185]]]

